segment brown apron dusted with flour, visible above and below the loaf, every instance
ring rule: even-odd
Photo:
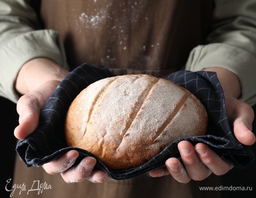
[[[189,52],[203,44],[211,26],[211,0],[41,0],[46,29],[56,29],[71,69],[100,64],[116,75],[147,73],[157,77],[180,70]],[[67,184],[42,168],[26,168],[17,157],[13,184],[25,184],[13,197],[38,198],[217,198],[218,176],[178,183],[171,176],[148,174],[105,183]],[[39,185],[36,187],[35,185]],[[42,189],[40,188],[40,185]],[[30,191],[30,190],[34,191]]]

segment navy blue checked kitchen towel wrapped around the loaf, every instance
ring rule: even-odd
[[[114,76],[108,69],[98,65],[83,64],[70,72],[59,84],[45,103],[40,115],[38,128],[26,139],[20,140],[16,151],[27,167],[41,166],[59,158],[68,150],[78,150],[79,163],[86,156],[93,156],[86,150],[68,147],[64,138],[64,118],[73,99],[89,84],[100,79]],[[230,129],[226,116],[224,95],[214,72],[177,71],[165,77],[188,89],[205,106],[209,123],[205,136],[185,137],[170,143],[160,154],[136,168],[126,170],[110,170],[97,158],[95,169],[102,169],[115,180],[124,180],[139,176],[152,169],[165,166],[170,157],[180,159],[177,144],[188,140],[193,144],[202,142],[214,150],[222,159],[237,168],[245,168],[254,161],[251,147],[237,141]]]

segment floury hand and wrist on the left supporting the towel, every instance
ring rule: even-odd
[[[17,103],[19,125],[14,131],[16,138],[24,139],[38,127],[42,107],[67,73],[46,59],[35,59],[22,67],[16,81],[17,91],[23,94]],[[93,171],[94,158],[84,158],[73,166],[78,155],[78,151],[71,150],[42,167],[49,174],[60,174],[67,183],[86,179],[101,183],[108,179],[105,172]]]

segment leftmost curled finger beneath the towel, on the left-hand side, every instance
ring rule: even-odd
[[[45,172],[51,175],[56,175],[66,171],[72,165],[74,165],[75,160],[78,158],[78,156],[79,152],[77,150],[70,150],[62,155],[60,158],[42,165],[42,167],[45,169]]]

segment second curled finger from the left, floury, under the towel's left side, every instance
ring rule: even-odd
[[[66,183],[75,183],[86,180],[90,177],[91,172],[96,164],[95,158],[86,157],[76,166],[61,172],[61,176]]]

